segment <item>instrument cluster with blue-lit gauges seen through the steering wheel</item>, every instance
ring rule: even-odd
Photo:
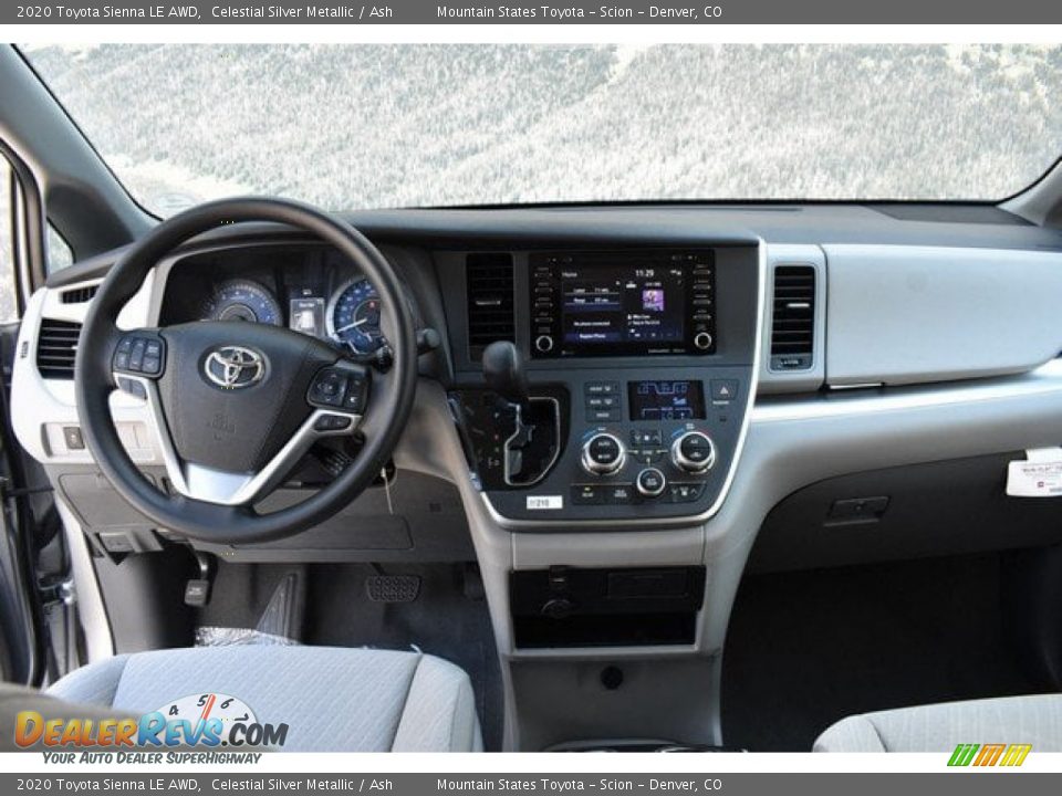
[[[327,248],[252,248],[184,259],[167,282],[160,323],[287,326],[368,357],[387,344],[381,310],[373,284]]]

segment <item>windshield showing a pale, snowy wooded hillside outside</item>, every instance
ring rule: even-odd
[[[668,199],[991,199],[1062,144],[1062,48],[98,45],[28,55],[169,216]]]

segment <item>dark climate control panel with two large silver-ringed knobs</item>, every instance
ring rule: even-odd
[[[750,369],[652,368],[627,376],[611,370],[563,379],[568,442],[530,488],[485,490],[498,514],[607,522],[702,516],[714,506],[737,452]]]

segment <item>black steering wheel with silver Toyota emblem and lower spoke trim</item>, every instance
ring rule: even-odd
[[[393,348],[392,367],[374,371],[320,339],[256,323],[118,328],[118,313],[163,258],[197,234],[240,221],[298,228],[350,259],[385,307],[382,323]],[[357,498],[393,453],[413,408],[416,383],[413,315],[383,254],[333,216],[300,202],[262,198],[201,205],[136,241],[96,292],[74,371],[85,442],[115,490],[160,526],[218,543],[289,536]],[[142,473],[118,439],[110,399],[123,386],[147,401],[168,489]],[[256,511],[315,440],[355,429],[364,444],[332,482],[296,505]]]

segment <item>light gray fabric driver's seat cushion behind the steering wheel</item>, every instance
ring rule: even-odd
[[[124,654],[83,667],[49,693],[127,714],[223,693],[261,723],[289,725],[288,752],[475,752],[468,675],[417,652],[233,646]]]

